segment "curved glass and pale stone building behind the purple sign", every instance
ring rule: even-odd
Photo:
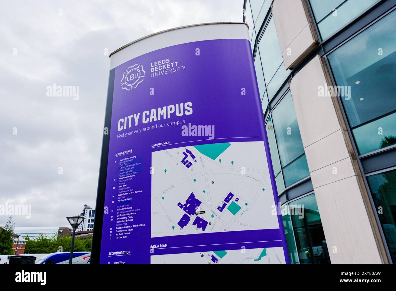
[[[396,1],[245,0],[243,21],[290,261],[396,262]]]

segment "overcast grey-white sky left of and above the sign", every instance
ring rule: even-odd
[[[243,0],[7,1],[0,10],[0,204],[16,227],[95,207],[109,53],[160,30],[242,21]],[[79,86],[79,99],[47,86]],[[15,130],[16,128],[16,130]],[[15,134],[16,133],[16,134]],[[63,174],[59,175],[59,167]],[[0,226],[7,216],[0,215]]]

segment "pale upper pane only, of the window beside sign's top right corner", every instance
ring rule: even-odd
[[[259,49],[261,52],[261,62],[263,63],[264,78],[269,82],[283,62],[274,19],[272,17],[261,37]]]

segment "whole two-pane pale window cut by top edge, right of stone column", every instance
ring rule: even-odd
[[[381,0],[310,0],[322,40]]]

